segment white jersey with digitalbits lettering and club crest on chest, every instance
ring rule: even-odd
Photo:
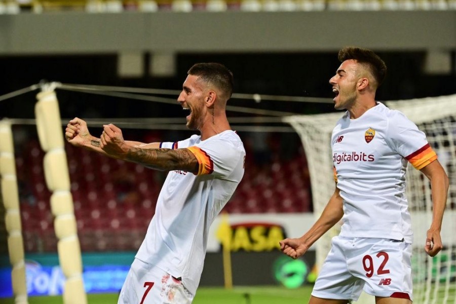
[[[422,169],[437,159],[426,135],[401,112],[377,103],[357,119],[347,111],[331,146],[344,201],[340,236],[412,243],[405,171],[407,162]]]

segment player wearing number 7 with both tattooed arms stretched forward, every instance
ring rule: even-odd
[[[118,127],[92,136],[74,118],[65,137],[75,146],[169,171],[155,215],[119,295],[119,304],[191,303],[206,254],[209,227],[244,175],[245,149],[226,118],[233,74],[218,63],[187,72],[177,101],[190,110],[187,127],[199,135],[178,142],[126,141]]]

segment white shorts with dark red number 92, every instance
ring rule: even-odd
[[[312,295],[356,301],[364,289],[412,300],[411,252],[403,241],[334,237]]]

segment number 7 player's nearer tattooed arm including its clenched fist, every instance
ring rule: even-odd
[[[187,148],[166,149],[158,146],[158,143],[131,146],[124,141],[122,130],[112,124],[103,126],[100,136],[100,148],[111,157],[161,171],[183,170],[198,173],[199,162],[192,151]]]

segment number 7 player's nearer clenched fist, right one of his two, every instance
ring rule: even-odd
[[[129,150],[129,146],[125,143],[122,135],[122,130],[113,124],[103,125],[100,147],[107,154],[116,158],[122,158]]]

